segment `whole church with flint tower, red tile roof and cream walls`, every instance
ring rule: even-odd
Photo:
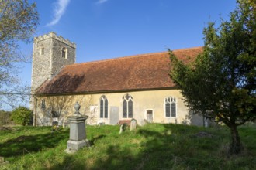
[[[32,86],[34,125],[67,124],[74,114],[88,115],[87,124],[146,122],[202,125],[189,113],[171,80],[168,52],[146,53],[75,63],[76,45],[54,32],[34,38]],[[174,50],[189,63],[202,47]]]

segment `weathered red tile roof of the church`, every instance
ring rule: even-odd
[[[178,49],[173,53],[187,63],[202,53],[202,47]],[[168,52],[77,63],[64,66],[36,93],[49,95],[171,89],[175,84],[169,72]]]

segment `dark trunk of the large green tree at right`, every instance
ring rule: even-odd
[[[240,143],[240,137],[237,131],[237,126],[230,127],[232,142],[230,144],[230,154],[239,154],[242,150],[242,145]]]

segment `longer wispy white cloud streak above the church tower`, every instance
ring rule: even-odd
[[[50,23],[48,23],[47,26],[54,26],[55,24],[57,24],[57,22],[60,21],[61,16],[64,15],[67,5],[70,1],[71,0],[57,0],[54,8],[54,19]]]

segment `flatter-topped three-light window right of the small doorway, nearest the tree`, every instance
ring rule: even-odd
[[[167,97],[164,100],[165,117],[176,117],[176,99],[175,97]]]

